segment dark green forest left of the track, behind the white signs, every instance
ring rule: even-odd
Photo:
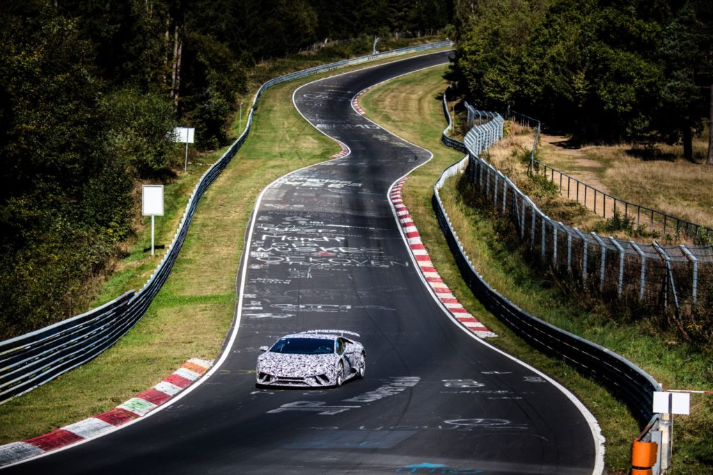
[[[134,235],[140,183],[183,170],[173,127],[195,127],[200,150],[226,145],[256,63],[356,37],[363,54],[374,35],[434,31],[452,11],[438,0],[1,1],[0,340],[86,310],[86,283]]]

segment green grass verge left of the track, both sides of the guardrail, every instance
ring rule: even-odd
[[[0,444],[107,411],[155,385],[188,358],[217,356],[232,322],[235,276],[257,195],[277,177],[327,160],[340,150],[292,105],[292,91],[320,76],[277,85],[262,95],[250,138],[200,200],[173,271],[146,315],[92,362],[0,405]],[[166,187],[166,215],[156,220],[157,244],[168,245],[173,239],[195,180],[224,151],[194,159],[189,173]],[[119,264],[120,271],[104,288],[102,300],[143,286],[160,260],[163,251],[153,258],[144,251],[150,246],[150,229],[143,229],[139,236],[128,258]]]

